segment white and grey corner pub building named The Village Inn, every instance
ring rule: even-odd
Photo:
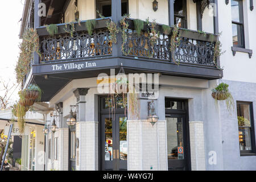
[[[256,169],[252,0],[25,4],[20,38],[26,28],[35,28],[41,56],[35,53],[23,88],[32,81],[40,86],[42,102],[55,108],[46,121],[54,119],[58,127],[46,135],[46,170]],[[122,27],[118,22],[125,14],[130,14],[129,26],[117,33],[115,43],[107,24],[113,21]],[[136,22],[147,18],[157,22],[154,46],[152,27],[142,27],[138,35]],[[96,23],[89,35],[92,19]],[[54,35],[47,31],[49,24],[56,24]],[[180,28],[179,45],[172,44],[175,28],[167,33],[164,25]],[[220,43],[225,53],[219,57]],[[111,82],[120,70],[138,76],[142,85],[153,79],[154,93],[148,88],[140,92],[135,104],[127,94],[127,106],[125,98],[115,96],[113,111],[113,100],[99,85],[102,78]],[[221,82],[229,85],[234,109],[212,97],[212,89]],[[154,125],[148,117],[152,109],[158,117]],[[74,126],[67,125],[70,113],[76,118]]]

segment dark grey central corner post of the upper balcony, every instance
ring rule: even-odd
[[[121,0],[112,0],[111,1],[111,7],[112,7],[112,20],[115,23],[118,23],[119,20],[122,18],[122,8],[121,8]],[[119,26],[119,23],[118,23]],[[112,51],[113,51],[113,56],[118,57],[121,56],[121,45],[122,45],[122,37],[121,33],[119,32],[117,34],[117,43],[112,44]]]

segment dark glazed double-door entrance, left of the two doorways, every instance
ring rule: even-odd
[[[100,169],[102,171],[127,170],[127,117],[123,98],[115,98],[116,109],[110,111],[108,97],[100,97]]]

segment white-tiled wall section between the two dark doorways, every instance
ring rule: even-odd
[[[127,121],[128,170],[166,171],[166,121]]]

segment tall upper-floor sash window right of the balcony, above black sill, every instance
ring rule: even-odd
[[[233,46],[245,48],[244,26],[243,26],[243,1],[232,0],[232,36]]]

